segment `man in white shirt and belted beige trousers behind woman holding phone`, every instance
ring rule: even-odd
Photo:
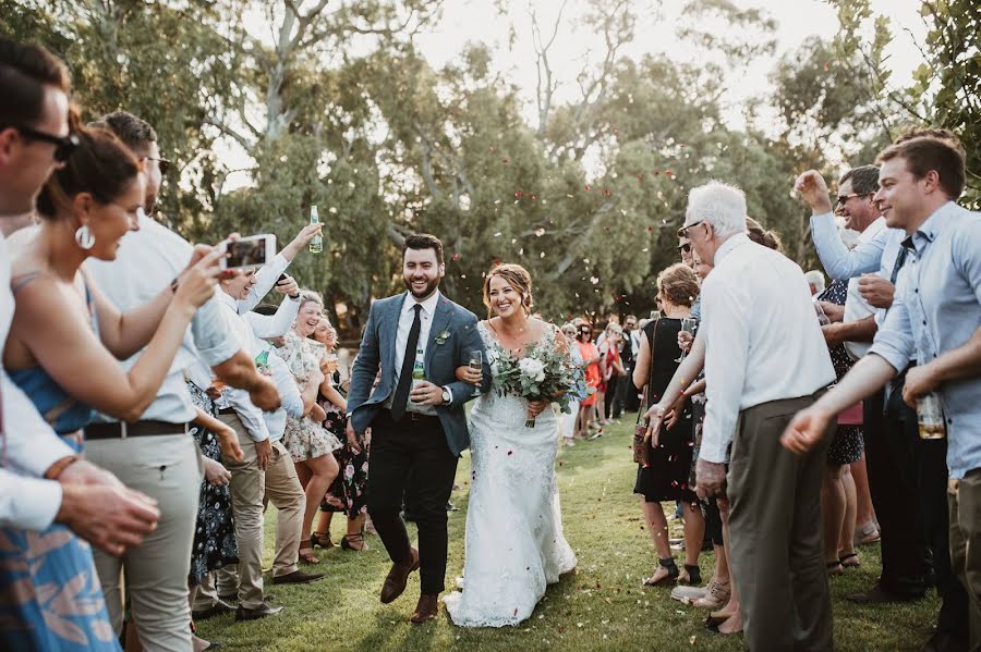
[[[160,164],[165,162],[153,127],[124,112],[107,115],[97,124],[110,128],[142,163],[144,207],[152,211],[160,188]],[[85,265],[89,276],[120,310],[130,310],[156,296],[192,256],[193,247],[186,241],[146,214],[140,216],[138,225],[138,231],[123,237],[113,262],[89,260]],[[156,497],[165,514],[157,531],[125,559],[96,555],[117,631],[123,619],[120,574],[125,566],[130,611],[148,652],[190,649],[192,644],[187,575],[197,517],[201,453],[189,434],[187,423],[197,413],[184,372],[198,358],[204,359],[223,382],[249,391],[257,405],[279,405],[275,385],[256,371],[252,356],[229,336],[230,320],[217,303],[219,294],[194,315],[164,384],[141,420],[123,423],[102,416],[101,423],[86,430],[89,457],[112,469],[129,487]],[[123,367],[132,368],[142,355],[124,360]],[[148,468],[155,472],[147,472]]]

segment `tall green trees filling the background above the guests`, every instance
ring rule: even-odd
[[[400,287],[398,247],[413,231],[444,239],[445,290],[477,313],[482,273],[501,260],[529,268],[548,318],[644,315],[654,278],[677,259],[688,190],[711,179],[739,184],[750,214],[813,267],[794,176],[870,162],[909,125],[961,136],[966,201],[978,205],[971,0],[923,3],[924,64],[899,90],[883,54],[888,19],[868,0],[834,0],[840,30],[780,59],[773,97],[747,104],[744,130],[727,126],[724,97],[746,62],[774,51],[777,25],[764,13],[688,2],[678,35],[703,54],[694,65],[623,53],[639,13],[656,5],[586,0],[574,20],[603,35],[605,51],[566,100],[552,51],[572,20],[566,2],[547,21],[525,2],[497,4],[533,36],[533,120],[487,46],[427,63],[415,39],[439,21],[441,0],[0,0],[0,33],[68,61],[84,118],[123,108],[155,125],[175,163],[161,218],[190,239],[271,231],[286,242],[317,205],[325,251],[300,257],[294,273],[349,336],[373,297]],[[719,21],[728,28],[705,27]],[[247,169],[229,169],[219,144],[246,155]],[[235,174],[251,184],[229,189]]]

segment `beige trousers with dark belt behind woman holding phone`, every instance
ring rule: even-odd
[[[122,630],[120,574],[125,569],[133,620],[147,652],[191,650],[187,576],[204,476],[194,439],[181,432],[156,436],[95,440],[85,456],[123,484],[156,499],[157,529],[122,557],[93,549],[109,619]]]

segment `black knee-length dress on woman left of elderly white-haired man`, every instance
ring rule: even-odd
[[[644,327],[644,336],[651,348],[651,376],[647,381],[647,407],[657,403],[678,369],[677,359],[681,355],[678,333],[681,320],[661,318]],[[649,503],[662,501],[695,502],[698,497],[690,482],[693,421],[690,402],[686,404],[681,418],[670,430],[661,427],[657,447],[650,447],[651,465],[639,467],[633,493],[644,496]],[[651,440],[653,443],[653,439]],[[650,444],[649,444],[650,446]]]

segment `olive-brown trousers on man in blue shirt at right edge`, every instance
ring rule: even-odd
[[[970,650],[981,650],[981,469],[950,480],[950,563],[968,593]]]

